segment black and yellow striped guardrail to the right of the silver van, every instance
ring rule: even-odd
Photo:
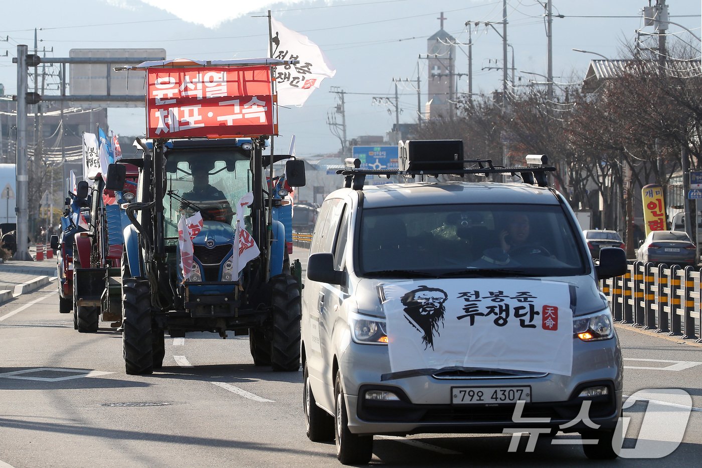
[[[701,278],[691,266],[635,261],[625,275],[602,280],[601,286],[615,322],[702,343]]]

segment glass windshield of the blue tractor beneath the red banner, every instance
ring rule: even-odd
[[[180,216],[233,226],[239,198],[251,191],[250,160],[236,152],[178,151],[166,162],[165,235],[178,237]]]

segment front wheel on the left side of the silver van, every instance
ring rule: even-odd
[[[336,371],[334,381],[334,439],[336,441],[336,457],[342,464],[366,464],[373,457],[373,436],[352,434],[348,428],[346,399],[341,387],[341,372]]]

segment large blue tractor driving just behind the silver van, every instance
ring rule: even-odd
[[[278,221],[288,219],[277,213],[280,189],[266,182],[274,180],[272,164],[290,157],[264,156],[265,138],[137,143],[143,159],[130,160],[140,177],[137,199],[126,206],[121,261],[126,372],[161,368],[166,332],[248,334],[256,365],[297,371],[300,264],[286,248],[291,226]],[[304,186],[303,162],[287,161],[285,176],[289,186]],[[123,166],[111,164],[107,188],[123,179]],[[201,223],[183,232],[183,220],[197,214]],[[260,254],[246,261],[251,242]]]

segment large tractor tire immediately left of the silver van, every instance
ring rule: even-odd
[[[273,335],[270,363],[273,370],[300,370],[300,290],[289,274],[271,278]]]

